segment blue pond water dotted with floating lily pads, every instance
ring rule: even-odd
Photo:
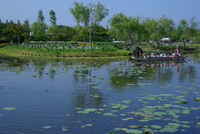
[[[182,63],[0,57],[0,133],[200,133],[200,55]]]

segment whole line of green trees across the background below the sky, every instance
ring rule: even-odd
[[[172,42],[193,40],[200,43],[199,22],[193,17],[190,22],[182,19],[178,23],[171,18],[162,16],[159,19],[126,16],[123,13],[113,15],[109,26],[103,27],[100,22],[108,15],[109,10],[101,3],[84,5],[74,2],[69,10],[76,20],[76,26],[57,25],[56,13],[49,11],[51,25],[47,26],[42,10],[38,11],[37,21],[29,20],[21,23],[0,21],[0,43],[22,43],[29,41],[92,41],[110,42],[123,41],[126,49],[135,44],[147,42],[149,45],[160,44],[160,39],[169,37]]]

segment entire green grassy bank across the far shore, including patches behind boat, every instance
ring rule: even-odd
[[[106,46],[106,45],[105,45]],[[102,47],[102,46],[101,46]],[[82,48],[75,49],[55,49],[51,47],[50,49],[44,49],[42,47],[25,47],[17,46],[13,44],[0,44],[0,54],[10,57],[18,58],[31,58],[31,59],[117,59],[117,58],[127,58],[128,54],[132,51],[127,51],[125,49],[119,49],[118,47],[112,45],[106,46],[105,50],[96,49],[93,53],[89,50],[82,50]],[[160,48],[155,49],[155,47],[150,47],[149,45],[141,45],[142,49],[146,52],[155,52],[155,51],[172,51],[175,50],[175,45],[162,45]],[[183,47],[183,46],[182,46]],[[200,51],[200,44],[188,44],[187,48],[195,48],[195,51]],[[183,50],[183,49],[181,49]],[[189,49],[188,49],[189,50]],[[193,50],[192,50],[193,51]],[[183,52],[183,51],[182,51]]]

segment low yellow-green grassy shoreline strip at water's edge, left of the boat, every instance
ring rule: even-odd
[[[125,59],[128,51],[123,52],[37,52],[34,50],[0,48],[0,55],[20,59],[43,60],[97,60],[97,59]]]

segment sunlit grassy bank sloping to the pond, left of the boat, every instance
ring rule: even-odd
[[[51,58],[51,59],[94,59],[94,58],[126,58],[129,51],[117,50],[115,52],[66,52],[63,50],[44,51],[39,48],[25,48],[8,45],[0,48],[0,54],[20,58]]]

